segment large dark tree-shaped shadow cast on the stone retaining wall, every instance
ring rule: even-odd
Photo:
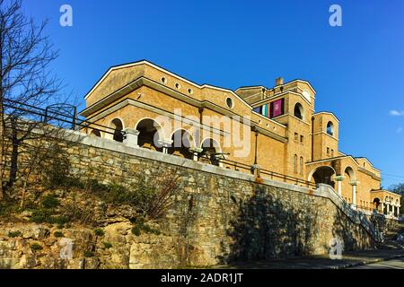
[[[307,210],[302,213],[294,208],[291,198],[280,201],[269,188],[257,187],[247,202],[238,203],[239,215],[227,231],[233,243],[219,257],[222,264],[298,257],[314,250],[318,213],[312,199],[302,199],[307,201]]]

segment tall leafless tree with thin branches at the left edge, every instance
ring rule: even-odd
[[[0,0],[0,199],[17,178],[20,152],[29,150],[22,145],[44,135],[35,132],[44,126],[36,108],[60,100],[61,81],[49,72],[57,51],[46,25],[25,16],[21,0]]]

